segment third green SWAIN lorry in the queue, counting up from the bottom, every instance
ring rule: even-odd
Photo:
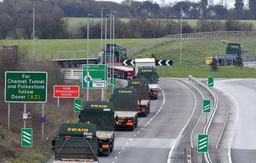
[[[115,129],[135,129],[138,125],[137,91],[132,88],[115,88],[111,95],[115,116]]]

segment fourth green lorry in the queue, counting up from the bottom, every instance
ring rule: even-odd
[[[150,112],[148,81],[142,79],[128,80],[127,87],[132,87],[136,89],[138,96],[137,110],[139,112],[139,115],[147,116]]]

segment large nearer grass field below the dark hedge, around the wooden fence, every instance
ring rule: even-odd
[[[154,39],[116,39],[115,43],[122,44],[127,49],[131,49],[138,44],[145,43]],[[74,40],[36,40],[35,41],[35,56],[38,59],[50,58],[58,51],[85,51],[86,39]],[[157,59],[173,60],[171,67],[159,67],[161,77],[188,77],[189,74],[196,73],[198,77],[204,77],[206,67],[204,65],[206,57],[213,55],[224,54],[227,43],[240,43],[243,46],[245,55],[256,55],[255,37],[216,37],[197,40],[182,41],[182,65],[180,65],[180,41],[172,41],[168,44],[161,45],[156,48],[143,51],[134,58],[145,58],[156,55]],[[29,55],[32,57],[32,40],[3,40],[3,45],[22,45],[27,46]],[[90,49],[95,56],[100,51],[100,39],[90,40]],[[60,53],[64,56],[64,53]],[[82,57],[86,57],[87,53],[83,52]],[[72,58],[73,53],[66,53],[64,58]],[[216,77],[255,77],[256,69],[246,68],[225,68],[221,67],[218,72],[214,73]],[[241,73],[239,73],[241,72]]]

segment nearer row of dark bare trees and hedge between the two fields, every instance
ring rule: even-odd
[[[35,37],[38,39],[86,39],[87,24],[78,24],[68,28],[60,15],[38,15],[35,19]],[[107,22],[107,37],[109,38],[109,21]],[[0,19],[1,23],[1,19]],[[6,26],[6,31],[0,31],[1,39],[31,39],[31,23],[21,23],[24,26]],[[105,21],[103,21],[103,38],[105,37]],[[8,28],[9,27],[9,28]],[[198,20],[196,26],[190,26],[188,22],[182,21],[182,34],[192,32],[211,31],[254,31],[253,24],[239,22],[238,20]],[[101,22],[90,23],[90,39],[100,39]],[[5,33],[3,33],[5,32]],[[115,38],[158,38],[166,35],[180,34],[180,21],[171,19],[130,19],[127,23],[115,19]]]

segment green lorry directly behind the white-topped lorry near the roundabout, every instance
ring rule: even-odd
[[[157,99],[158,88],[157,83],[159,81],[159,75],[154,67],[140,67],[137,73],[137,79],[148,80],[149,97],[151,99]]]

